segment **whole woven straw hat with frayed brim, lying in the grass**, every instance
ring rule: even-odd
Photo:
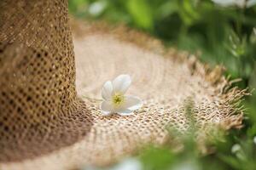
[[[0,3],[1,170],[103,166],[164,144],[166,127],[189,128],[188,99],[201,134],[212,123],[241,127],[246,92],[229,89],[220,67],[122,26],[73,21],[72,40],[67,15],[64,0]],[[102,116],[102,85],[124,73],[143,107]]]

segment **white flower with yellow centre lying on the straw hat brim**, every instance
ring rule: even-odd
[[[133,111],[142,107],[141,99],[125,95],[125,92],[131,85],[131,77],[129,75],[120,75],[113,82],[105,82],[102,88],[102,98],[104,101],[101,105],[102,114],[107,116],[112,113],[119,115],[131,115]]]

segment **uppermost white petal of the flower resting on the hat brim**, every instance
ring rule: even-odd
[[[113,92],[120,92],[125,94],[131,84],[131,77],[129,75],[119,75],[113,80]]]

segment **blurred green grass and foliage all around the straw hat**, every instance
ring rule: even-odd
[[[80,20],[144,31],[212,67],[223,65],[226,77],[241,78],[234,86],[256,88],[256,0],[69,0],[69,12]],[[148,146],[108,169],[256,169],[255,93],[242,104],[247,108],[244,127],[216,133],[212,154],[201,154],[191,137],[184,139],[182,151],[168,144]]]

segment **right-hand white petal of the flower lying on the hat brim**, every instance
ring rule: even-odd
[[[135,111],[143,106],[143,100],[135,96],[125,96],[125,108]]]

